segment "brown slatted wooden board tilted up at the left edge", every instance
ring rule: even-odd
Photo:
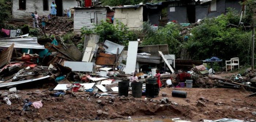
[[[12,44],[9,48],[3,50],[0,54],[0,67],[4,66],[8,62],[11,61],[12,51],[14,49],[14,44]]]

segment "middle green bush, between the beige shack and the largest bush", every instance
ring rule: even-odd
[[[175,23],[170,23],[164,27],[155,29],[148,22],[143,24],[143,32],[146,36],[143,39],[142,45],[159,45],[168,44],[170,54],[180,56],[180,45],[182,42],[182,36],[179,34],[181,26]]]

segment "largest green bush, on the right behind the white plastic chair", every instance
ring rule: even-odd
[[[228,23],[238,25],[239,20],[240,16],[232,9],[229,9],[227,15],[204,19],[199,26],[192,28],[193,36],[183,46],[189,50],[194,60],[216,56],[223,60],[239,57],[241,64],[249,62],[251,31],[242,26],[227,26]]]

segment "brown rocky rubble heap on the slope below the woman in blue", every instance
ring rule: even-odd
[[[46,32],[60,36],[74,30],[74,20],[67,17],[53,17],[46,23]]]

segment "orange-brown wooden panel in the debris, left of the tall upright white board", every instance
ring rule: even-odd
[[[116,61],[116,55],[99,53],[99,56],[96,58],[95,64],[97,65],[111,65]]]

